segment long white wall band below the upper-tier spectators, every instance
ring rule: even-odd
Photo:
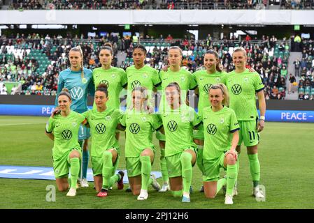
[[[0,24],[314,25],[314,10],[0,10]]]

